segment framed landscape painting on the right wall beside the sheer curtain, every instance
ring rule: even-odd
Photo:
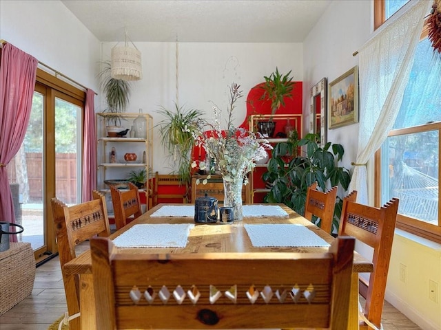
[[[328,127],[336,129],[358,122],[358,66],[328,87]]]

